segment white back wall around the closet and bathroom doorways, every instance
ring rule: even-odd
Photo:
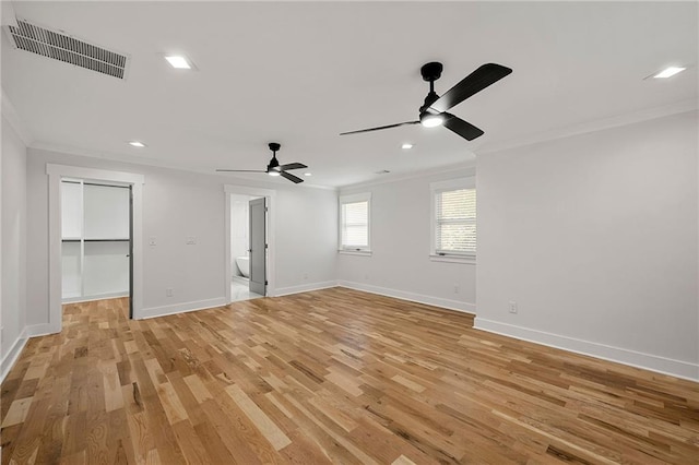
[[[28,218],[27,253],[28,294],[27,322],[32,325],[48,322],[48,178],[46,164],[72,165],[98,169],[114,169],[145,176],[143,187],[143,273],[144,315],[165,314],[225,303],[225,193],[224,183],[230,178],[201,175],[81,157],[55,152],[29,150],[27,162]],[[280,210],[298,196],[308,204],[318,205],[316,214],[334,215],[334,206],[327,198],[334,191],[310,189],[303,186],[281,186],[250,182],[248,186],[276,189]],[[303,191],[304,193],[299,193]],[[327,210],[329,210],[327,212]],[[292,240],[284,240],[285,235]],[[312,224],[297,224],[296,217],[285,212],[277,214],[277,260],[299,262],[313,257],[318,269],[313,278],[334,279],[335,261],[330,251],[322,253],[321,236],[334,237],[334,228],[317,228]],[[187,245],[187,237],[196,238]],[[316,237],[317,236],[317,237]],[[150,246],[154,237],[156,245]],[[316,237],[316,242],[298,240]],[[325,240],[324,242],[329,242]],[[229,279],[228,279],[229,282]],[[277,287],[301,286],[306,281],[292,273],[284,264],[276,267]],[[309,281],[310,282],[310,278]],[[166,289],[173,296],[166,296]]]

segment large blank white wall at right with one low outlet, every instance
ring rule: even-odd
[[[479,155],[476,327],[699,379],[697,129]]]

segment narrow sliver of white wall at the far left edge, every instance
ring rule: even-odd
[[[2,369],[4,378],[25,339],[26,147],[2,117]],[[1,379],[1,378],[0,378]]]

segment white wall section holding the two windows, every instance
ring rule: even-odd
[[[473,168],[356,186],[341,194],[371,192],[371,255],[340,253],[342,285],[473,312],[476,265],[429,260],[430,182],[475,176]],[[334,218],[337,222],[336,218]],[[337,238],[334,239],[337,248]],[[459,293],[454,288],[459,288]]]

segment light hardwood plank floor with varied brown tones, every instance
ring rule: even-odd
[[[2,384],[2,463],[699,463],[699,384],[332,288],[143,321],[70,305]]]

